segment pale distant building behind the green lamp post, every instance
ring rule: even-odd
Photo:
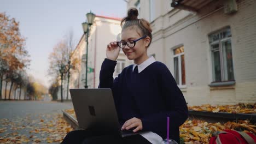
[[[97,88],[100,83],[101,64],[106,58],[106,49],[110,41],[117,41],[121,33],[121,19],[106,16],[96,16],[88,37],[88,87]],[[82,31],[82,28],[81,28]],[[74,50],[73,58],[80,59],[77,69],[71,70],[69,88],[84,88],[86,68],[86,34],[82,35],[77,47]],[[121,70],[133,62],[126,58],[123,51],[120,51],[117,59],[117,66],[113,77],[116,77]],[[59,89],[60,91],[60,89]],[[63,98],[66,99],[67,80],[63,84]],[[68,96],[70,99],[70,96]],[[61,99],[60,92],[58,99]]]

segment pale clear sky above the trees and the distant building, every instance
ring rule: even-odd
[[[27,73],[46,87],[51,84],[50,52],[69,31],[73,31],[75,46],[78,44],[86,13],[123,18],[127,9],[124,0],[0,0],[0,3],[0,13],[5,12],[20,22],[31,59]]]

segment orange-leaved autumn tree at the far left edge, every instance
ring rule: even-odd
[[[25,38],[20,34],[19,22],[0,13],[0,94],[2,98],[2,81],[5,75],[5,99],[7,84],[11,81],[13,87],[15,71],[24,70],[29,64],[29,55],[25,49]],[[9,92],[9,99],[10,99]]]

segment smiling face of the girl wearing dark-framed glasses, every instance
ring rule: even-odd
[[[127,27],[121,33],[121,41],[136,40],[143,36],[144,35],[141,35],[136,31],[136,28]],[[122,50],[126,57],[130,60],[138,61],[138,59],[147,56],[147,46],[149,44],[148,38],[149,37],[136,41],[136,44],[133,48],[125,45]]]

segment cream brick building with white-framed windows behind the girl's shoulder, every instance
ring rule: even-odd
[[[171,6],[172,5],[172,6]],[[130,0],[189,105],[256,102],[256,1]]]

